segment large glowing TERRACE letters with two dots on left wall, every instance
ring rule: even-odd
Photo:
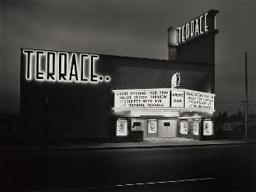
[[[99,55],[47,50],[22,50],[26,80],[98,84],[109,75],[96,72]]]

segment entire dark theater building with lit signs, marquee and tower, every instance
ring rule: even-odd
[[[213,139],[215,17],[168,29],[168,60],[21,50],[21,137]]]

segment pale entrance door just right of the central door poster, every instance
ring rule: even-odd
[[[177,122],[175,119],[158,120],[159,137],[176,137]]]

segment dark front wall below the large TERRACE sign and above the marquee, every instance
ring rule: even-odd
[[[50,99],[50,137],[111,137],[116,134],[113,89],[171,87],[171,75],[177,70],[184,88],[209,91],[213,84],[214,66],[202,63],[99,55],[95,70],[111,77],[109,83],[99,84],[26,81],[24,63],[22,57],[20,136],[26,137],[43,136],[45,96]]]

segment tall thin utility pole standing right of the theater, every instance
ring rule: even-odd
[[[248,142],[247,138],[247,105],[248,105],[248,85],[247,85],[247,53],[244,53],[244,77],[245,77],[245,104],[244,104],[244,124],[245,124],[245,142]]]

